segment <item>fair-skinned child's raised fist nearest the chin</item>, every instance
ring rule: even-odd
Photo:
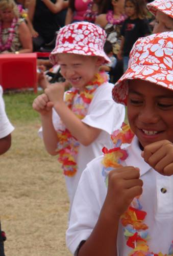
[[[47,97],[54,103],[63,102],[66,82],[52,83],[44,90]]]

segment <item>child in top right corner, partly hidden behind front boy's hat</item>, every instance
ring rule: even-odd
[[[146,5],[149,11],[156,16],[153,33],[173,31],[173,1],[155,0]]]

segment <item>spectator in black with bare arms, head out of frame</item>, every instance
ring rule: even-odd
[[[31,0],[28,6],[30,31],[34,51],[50,43],[59,30],[57,13],[63,9],[63,0]]]

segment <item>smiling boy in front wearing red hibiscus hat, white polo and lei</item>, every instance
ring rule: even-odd
[[[173,32],[139,38],[115,84],[134,137],[122,126],[115,148],[87,164],[66,233],[75,255],[173,255],[172,44]]]

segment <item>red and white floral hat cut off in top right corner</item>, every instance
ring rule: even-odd
[[[149,11],[156,15],[157,10],[173,18],[173,1],[172,0],[155,0],[146,5]]]

